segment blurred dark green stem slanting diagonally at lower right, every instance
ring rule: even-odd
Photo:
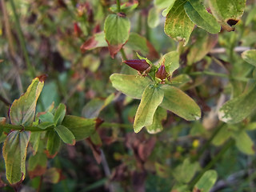
[[[218,159],[222,157],[223,154],[225,154],[226,150],[228,150],[231,146],[234,145],[234,139],[230,139],[226,144],[222,147],[222,150],[203,168],[203,170],[190,182],[189,189],[193,189],[194,185],[199,181],[199,179],[202,177],[202,175],[207,171],[210,170],[212,166],[216,162],[218,162]]]

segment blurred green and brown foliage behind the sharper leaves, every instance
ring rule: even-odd
[[[155,135],[145,130],[134,134],[132,122],[138,100],[118,94],[110,84],[109,77],[114,72],[134,73],[121,65],[123,55],[110,58],[107,47],[80,50],[86,40],[103,30],[110,6],[115,3],[113,0],[1,0],[0,116],[7,117],[9,104],[26,90],[32,78],[47,74],[38,112],[46,110],[53,101],[55,106],[63,102],[67,114],[86,117],[93,113],[88,110],[98,110],[95,113],[99,113],[99,118],[109,122],[98,129],[102,145],[99,142],[97,149],[91,150],[95,146],[82,141],[76,146],[63,146],[56,158],[48,161],[47,166],[62,172],[58,183],[53,183],[52,178],[26,177],[22,191],[36,191],[40,187],[41,191],[170,191],[179,182],[190,182],[194,174],[187,174],[211,162],[222,150],[226,133],[237,129],[226,127],[226,133],[216,131],[226,126],[219,122],[216,111],[228,99],[221,95],[233,98],[241,94],[246,82],[254,77],[254,67],[243,61],[240,54],[256,48],[256,2],[247,1],[235,31],[221,31],[217,35],[195,28],[185,47],[164,33],[165,18],[153,1],[138,1],[137,9],[127,14],[130,32],[142,35],[157,52],[151,58],[148,56],[152,62],[178,49],[180,68],[174,77],[184,74],[187,81],[180,88],[202,109],[202,119],[196,122],[186,122],[168,113],[162,122],[164,130]],[[154,11],[155,14],[150,13]],[[137,58],[134,50],[144,56],[150,53],[148,47],[140,44],[136,47],[129,41],[123,48],[127,58]],[[112,102],[105,107],[102,101],[113,93]],[[249,122],[256,121],[254,114],[238,124],[238,128],[245,130]],[[253,141],[254,128],[246,130]],[[101,163],[95,160],[97,155]],[[179,171],[178,166],[188,158],[193,160],[192,166]],[[231,146],[212,166],[218,172],[218,181],[211,191],[254,191],[255,165],[254,155]],[[2,159],[0,171],[5,181]],[[12,191],[9,186],[2,190]]]

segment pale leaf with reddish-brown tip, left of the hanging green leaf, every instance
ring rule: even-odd
[[[104,31],[94,34],[82,44],[80,50],[84,53],[86,50],[93,50],[98,47],[107,46]]]

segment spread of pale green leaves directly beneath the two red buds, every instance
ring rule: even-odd
[[[158,132],[156,130],[161,127],[158,126],[161,125],[161,120],[156,117],[159,114],[163,115],[162,118],[166,116],[161,112],[161,108],[170,110],[188,121],[198,120],[201,117],[201,110],[194,100],[174,86],[158,85],[152,82],[150,78],[126,74],[112,74],[110,81],[114,88],[123,94],[131,98],[141,99],[134,119],[134,131],[136,133],[142,130],[143,126],[151,126],[149,128],[151,132]]]

